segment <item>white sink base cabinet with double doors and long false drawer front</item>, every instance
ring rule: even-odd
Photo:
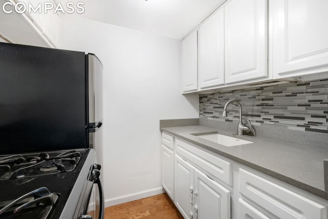
[[[174,148],[174,198],[182,215],[194,219],[229,219],[230,191],[212,180],[219,178],[230,183],[229,163],[179,139],[175,139]]]

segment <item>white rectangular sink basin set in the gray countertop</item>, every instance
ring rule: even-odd
[[[250,142],[250,141],[246,141],[246,140],[242,140],[236,137],[230,137],[227,135],[223,135],[223,134],[218,134],[218,133],[214,133],[214,134],[194,134],[200,138],[203,138],[205,140],[220,144],[220,145],[224,145],[227,147],[231,147],[231,146],[237,146],[237,145],[245,145],[245,144],[251,144],[254,142]]]

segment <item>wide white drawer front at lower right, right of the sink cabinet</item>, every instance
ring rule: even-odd
[[[325,206],[241,168],[239,191],[279,218],[327,218]]]

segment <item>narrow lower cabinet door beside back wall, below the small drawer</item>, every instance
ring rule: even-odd
[[[162,186],[174,200],[174,152],[162,145]]]

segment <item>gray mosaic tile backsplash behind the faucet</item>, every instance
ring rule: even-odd
[[[243,118],[253,125],[277,125],[289,129],[328,133],[328,79],[199,95],[199,116],[210,120],[239,120],[238,106],[231,103],[228,117],[223,107],[239,101]]]

